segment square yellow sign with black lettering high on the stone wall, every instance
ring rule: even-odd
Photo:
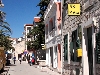
[[[69,16],[80,15],[80,4],[68,4],[68,15]]]

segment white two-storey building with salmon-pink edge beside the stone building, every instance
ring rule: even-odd
[[[61,0],[51,0],[44,14],[46,65],[61,72]]]

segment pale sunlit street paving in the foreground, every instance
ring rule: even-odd
[[[13,62],[11,62],[13,63]],[[7,75],[60,75],[56,72],[49,70],[48,68],[36,68],[36,66],[30,66],[27,62],[19,63],[16,61],[15,65],[10,66]]]

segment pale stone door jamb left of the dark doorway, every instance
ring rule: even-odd
[[[82,28],[82,64],[83,75],[89,75],[88,56],[87,56],[87,29]]]

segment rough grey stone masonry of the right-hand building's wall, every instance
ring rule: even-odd
[[[77,29],[78,25],[82,25],[82,23],[86,23],[90,18],[93,18],[93,16],[95,16],[97,18],[97,22],[98,22],[98,19],[100,18],[100,14],[99,14],[99,12],[100,12],[100,8],[99,8],[100,7],[100,1],[99,0],[91,0],[91,3],[93,3],[93,1],[95,2],[95,4],[93,4],[87,10],[84,11],[84,8],[82,8],[82,14],[80,16],[68,16],[67,15],[68,14],[67,13],[67,6],[66,6],[67,4],[63,7],[63,16],[62,16],[62,18],[63,18],[63,22],[62,22],[63,23],[63,38],[69,32],[69,40],[68,40],[69,43],[72,40],[71,39],[72,38],[72,32],[75,29]],[[71,2],[67,1],[67,3],[71,3]],[[81,6],[84,7],[84,1],[83,0],[77,0],[76,3],[80,3]],[[97,26],[97,27],[99,28],[99,26]],[[63,42],[63,45],[64,45],[64,42]],[[68,54],[70,54],[70,45],[69,45],[69,50],[68,51],[69,51]],[[63,60],[63,62],[64,62],[64,60]],[[70,62],[70,63],[68,64],[68,62]],[[66,73],[67,75],[70,75],[70,73],[73,74],[73,75],[76,75],[76,70],[75,70],[76,68],[78,68],[80,70],[80,74],[79,75],[82,75],[82,68],[83,67],[81,65],[79,65],[79,63],[72,62],[70,60],[68,60],[68,62],[63,63],[64,67],[66,66],[65,67],[65,69],[66,69],[65,71],[70,70],[70,69],[68,69],[69,65],[72,68],[71,72],[67,71],[67,73]],[[86,69],[87,68],[84,68],[85,71],[86,71]],[[88,72],[87,72],[86,75],[88,75]]]

